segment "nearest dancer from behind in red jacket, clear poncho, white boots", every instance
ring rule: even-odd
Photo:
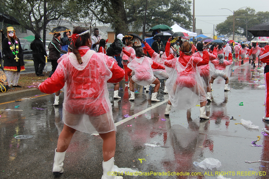
[[[117,83],[124,71],[107,55],[96,53],[91,48],[88,30],[75,27],[70,53],[63,59],[51,78],[43,83],[33,83],[41,92],[52,94],[65,87],[62,120],[64,127],[55,149],[53,173],[63,173],[66,150],[76,130],[99,133],[103,139],[102,179],[122,179],[114,173],[116,126],[108,98],[107,81]],[[56,75],[55,75],[56,74]]]

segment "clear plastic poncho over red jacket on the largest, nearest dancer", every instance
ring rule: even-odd
[[[87,133],[116,131],[108,98],[107,81],[114,61],[89,50],[79,65],[74,53],[58,64],[55,73],[64,76],[63,121]]]

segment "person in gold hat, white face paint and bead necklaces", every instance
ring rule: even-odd
[[[21,87],[18,85],[20,73],[25,70],[22,46],[15,34],[13,27],[7,27],[7,38],[2,42],[4,58],[4,70],[7,76],[8,87]]]

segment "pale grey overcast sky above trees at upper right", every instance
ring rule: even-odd
[[[193,0],[191,0],[193,2]],[[203,34],[213,34],[213,24],[225,21],[227,16],[232,16],[231,11],[241,7],[251,7],[259,11],[269,11],[268,0],[195,0],[196,29],[202,29]],[[221,8],[227,8],[220,10]],[[193,10],[193,8],[191,7]],[[216,35],[216,31],[215,31]]]

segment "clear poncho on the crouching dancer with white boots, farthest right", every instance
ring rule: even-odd
[[[225,79],[228,76],[228,71],[229,71],[230,65],[232,64],[232,60],[229,60],[229,61],[224,60],[223,54],[219,54],[218,57],[221,57],[221,59],[219,60],[216,59],[209,62],[210,75],[213,78]]]

